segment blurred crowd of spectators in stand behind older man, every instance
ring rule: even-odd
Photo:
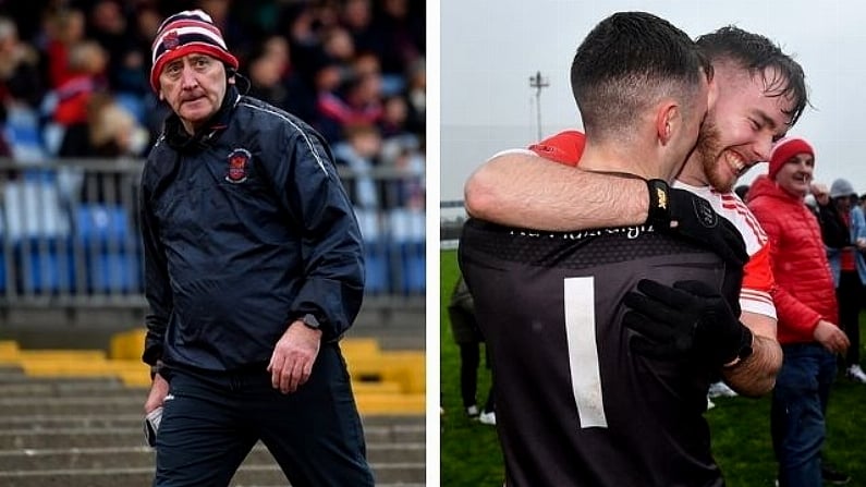
[[[425,1],[0,0],[0,157],[144,157],[168,108],[148,85],[171,13],[199,8],[239,87],[290,111],[350,169],[359,209],[424,206]],[[247,88],[248,85],[248,88]],[[404,174],[385,184],[375,173]]]

